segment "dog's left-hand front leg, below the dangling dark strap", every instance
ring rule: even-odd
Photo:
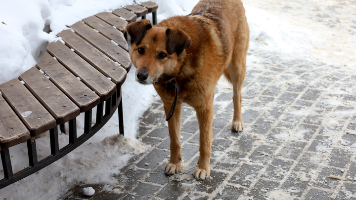
[[[166,116],[171,110],[171,101],[162,99]],[[167,175],[176,174],[180,172],[181,167],[181,152],[180,152],[180,113],[181,102],[177,101],[175,112],[170,120],[168,120],[168,130],[171,139],[171,158],[166,165],[165,173]]]

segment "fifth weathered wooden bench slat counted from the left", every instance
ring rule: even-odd
[[[80,23],[84,24],[82,22]],[[69,71],[79,77],[90,89],[94,90],[101,101],[105,101],[115,92],[116,85],[112,81],[107,79],[62,42],[56,41],[49,43],[47,50]]]

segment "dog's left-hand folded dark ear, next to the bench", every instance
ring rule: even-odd
[[[152,28],[151,22],[147,19],[130,23],[127,26],[127,32],[131,37],[131,43],[138,45],[143,39],[147,30]]]

